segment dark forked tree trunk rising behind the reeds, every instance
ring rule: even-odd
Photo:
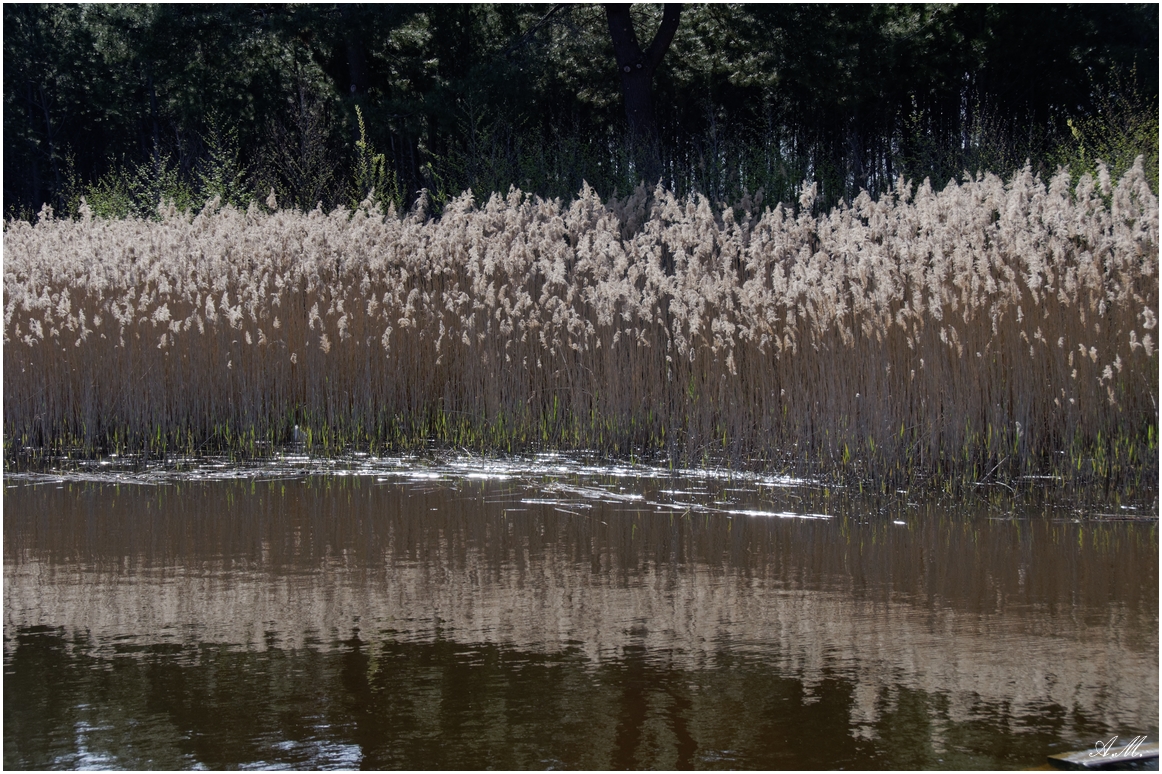
[[[617,71],[622,77],[631,152],[639,177],[651,182],[661,174],[658,122],[653,112],[653,76],[674,40],[681,14],[681,3],[667,2],[658,33],[643,51],[633,30],[629,3],[605,6],[609,36],[614,42]]]

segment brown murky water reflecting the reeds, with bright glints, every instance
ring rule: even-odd
[[[3,528],[6,768],[1006,768],[1157,736],[1156,519],[540,458],[9,475]]]

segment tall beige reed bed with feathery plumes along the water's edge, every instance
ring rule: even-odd
[[[294,440],[588,449],[883,481],[1157,485],[1139,163],[812,214],[639,188],[429,217],[210,202],[9,222],[6,458]]]

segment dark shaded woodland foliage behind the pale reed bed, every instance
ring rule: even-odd
[[[673,9],[672,9],[673,10]],[[156,216],[163,199],[439,207],[510,185],[629,195],[607,10],[530,5],[3,9],[7,216]],[[660,6],[632,8],[646,45]],[[819,207],[901,175],[1138,155],[1156,191],[1157,6],[688,6],[653,76],[661,179]],[[648,180],[651,185],[654,179]]]

